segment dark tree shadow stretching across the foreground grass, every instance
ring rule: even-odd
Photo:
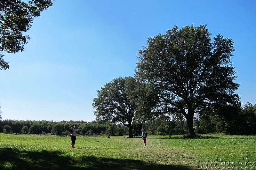
[[[187,166],[160,165],[154,162],[144,162],[142,160],[113,159],[96,156],[82,156],[74,158],[72,156],[67,156],[63,154],[64,153],[60,151],[50,152],[43,150],[40,152],[31,152],[13,148],[0,148],[0,169],[189,169]]]

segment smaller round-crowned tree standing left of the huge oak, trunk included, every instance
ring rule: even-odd
[[[136,118],[137,103],[135,78],[115,78],[97,91],[93,99],[93,108],[96,120],[108,120],[112,123],[122,122],[129,128],[129,137],[132,138],[132,122]]]

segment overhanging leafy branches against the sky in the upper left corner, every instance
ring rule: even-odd
[[[0,70],[9,69],[3,52],[16,53],[24,50],[29,36],[23,35],[33,23],[33,17],[52,6],[52,0],[0,0]]]

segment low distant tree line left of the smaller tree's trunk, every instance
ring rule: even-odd
[[[110,123],[98,123],[96,121],[84,122],[84,121],[16,121],[16,120],[4,120],[0,121],[0,132],[4,133],[22,133],[22,134],[51,134],[58,136],[66,136],[71,134],[71,130],[64,127],[64,124],[68,124],[71,127],[77,125],[82,131],[77,131],[78,135],[107,135],[111,136],[123,136],[128,134],[128,128],[119,124]]]

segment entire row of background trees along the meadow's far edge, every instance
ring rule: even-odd
[[[234,111],[234,110],[233,110]],[[251,103],[240,108],[239,113],[229,113],[226,110],[226,118],[219,115],[197,117],[194,120],[194,130],[197,134],[224,133],[228,135],[256,135],[256,104]],[[1,116],[1,115],[0,115]],[[170,128],[169,128],[170,123]],[[120,124],[109,122],[85,122],[85,121],[16,121],[1,120],[0,132],[22,133],[22,134],[51,134],[66,136],[71,134],[71,130],[64,127],[64,124],[74,126],[75,124],[82,131],[77,131],[78,135],[107,135],[128,136],[129,129]],[[149,135],[185,135],[187,134],[187,121],[181,118],[176,121],[166,121],[165,118],[156,118],[153,122],[144,122],[143,128]],[[133,132],[134,134],[134,132]]]

